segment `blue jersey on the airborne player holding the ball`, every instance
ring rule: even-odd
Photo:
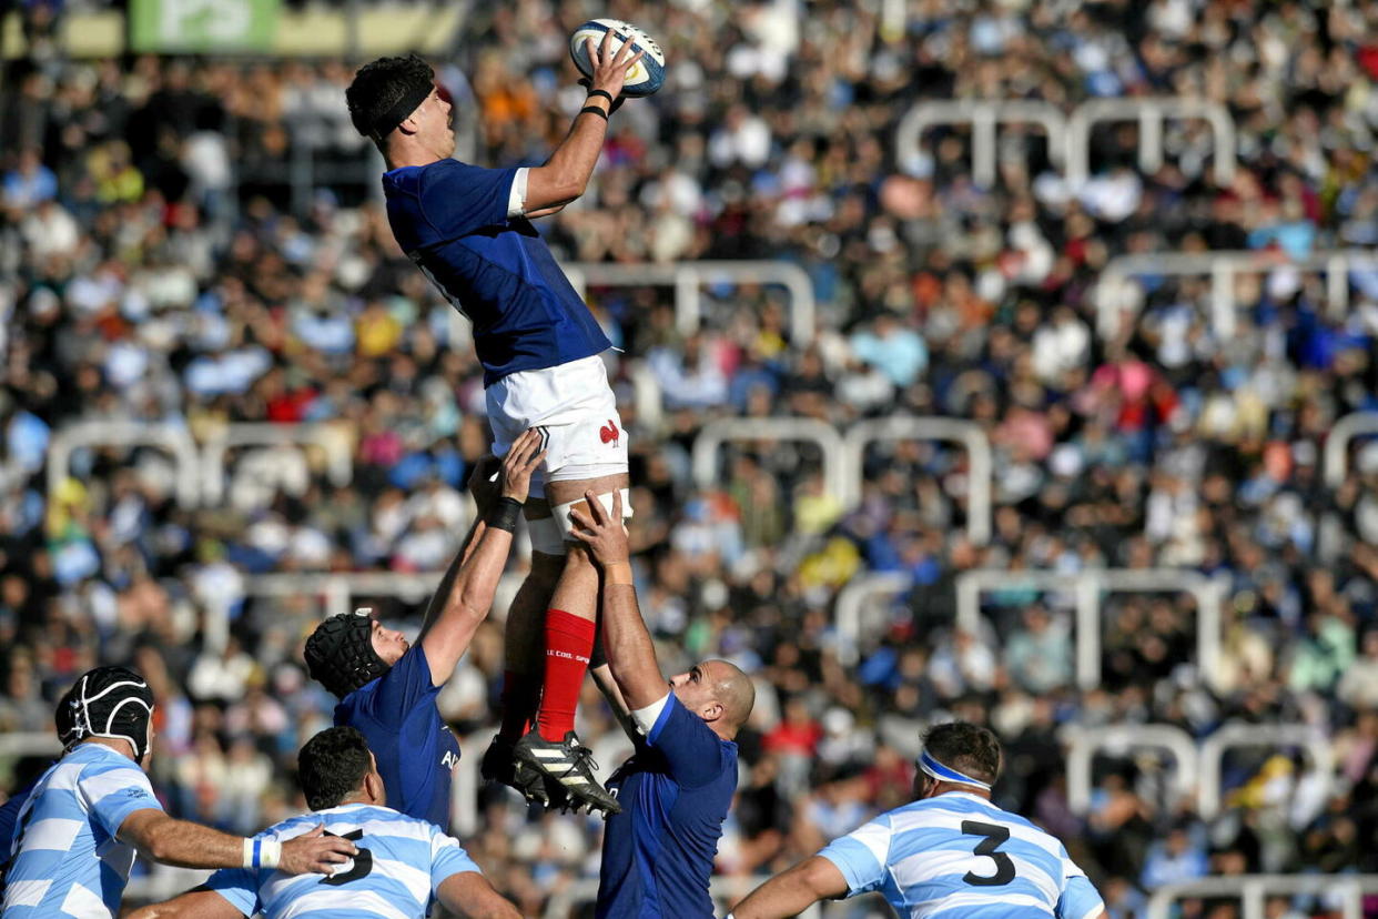
[[[484,386],[612,346],[531,220],[507,215],[515,175],[448,158],[383,174],[393,236],[474,324]]]

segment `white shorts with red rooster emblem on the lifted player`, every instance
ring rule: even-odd
[[[508,373],[484,395],[495,455],[506,456],[522,431],[540,428],[546,462],[532,475],[532,497],[546,496],[546,482],[627,471],[627,431],[599,355]]]

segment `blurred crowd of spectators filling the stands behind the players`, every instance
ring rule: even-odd
[[[478,163],[539,163],[566,130],[583,91],[564,36],[582,6],[495,6],[435,62]],[[795,340],[780,291],[710,287],[701,332],[682,335],[668,289],[588,292],[623,349],[609,358],[661,661],[721,656],[758,679],[719,871],[779,869],[904,801],[919,730],[945,716],[998,732],[996,801],[1062,838],[1115,919],[1206,874],[1378,871],[1363,842],[1378,832],[1378,446],[1352,451],[1338,488],[1322,475],[1335,422],[1378,408],[1378,273],[1352,273],[1338,317],[1322,277],[1242,276],[1229,335],[1206,278],[1152,278],[1112,335],[1096,289],[1122,254],[1280,263],[1378,242],[1378,6],[918,0],[900,33],[831,0],[612,6],[655,21],[674,66],[613,116],[590,193],[544,220],[557,255],[787,259],[820,304],[816,335]],[[128,663],[160,705],[152,772],[169,810],[233,832],[300,810],[295,754],[333,704],[300,660],[318,598],[251,598],[247,583],[442,569],[488,449],[481,369],[386,226],[376,160],[344,110],[350,74],[54,56],[17,69],[0,99],[0,730],[48,730],[76,674]],[[973,180],[962,131],[894,156],[922,99],[1152,94],[1229,106],[1228,187],[1189,123],[1167,125],[1155,174],[1137,167],[1133,124],[1098,131],[1080,187],[1018,128],[1002,134],[995,187]],[[280,167],[303,150],[358,178],[294,196]],[[648,376],[649,406],[635,398]],[[852,510],[791,444],[730,451],[712,489],[690,474],[711,419],[896,413],[983,426],[988,544],[965,535],[970,467],[952,446],[874,452]],[[81,449],[50,491],[47,448],[81,420],[197,438],[320,422],[354,473],[344,485],[318,462],[244,456],[220,504],[189,508],[157,453]],[[963,570],[1158,566],[1228,583],[1211,681],[1189,597],[1111,598],[1096,690],[1076,688],[1068,597],[988,594],[989,630],[952,627]],[[867,572],[914,588],[850,665],[834,608]],[[230,639],[212,652],[203,616],[220,603]],[[391,621],[416,612],[379,606]],[[473,734],[466,756],[491,733],[502,613],[442,696]],[[613,748],[591,686],[580,718],[586,741]],[[1073,813],[1058,729],[1144,722],[1193,737],[1308,723],[1335,774],[1236,755],[1228,806],[1204,821],[1170,801],[1156,758],[1100,759],[1091,810]],[[532,816],[496,788],[482,801],[466,846],[526,915],[597,875],[598,818]],[[1222,909],[1191,915],[1235,915]]]

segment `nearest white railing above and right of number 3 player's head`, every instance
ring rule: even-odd
[[[1196,665],[1206,681],[1218,679],[1222,586],[1199,572],[1177,568],[1107,568],[1078,573],[977,569],[958,575],[956,624],[976,634],[981,626],[981,594],[996,588],[1072,591],[1076,601],[1076,683],[1101,682],[1101,595],[1186,591],[1196,597]]]

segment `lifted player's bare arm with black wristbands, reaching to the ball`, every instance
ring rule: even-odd
[[[588,178],[594,174],[604,138],[608,135],[608,116],[612,114],[615,101],[621,95],[627,72],[644,54],[641,51],[633,54],[631,41],[624,41],[613,52],[609,44],[610,39],[612,30],[609,29],[604,33],[598,47],[593,47],[593,40],[588,40],[588,59],[594,65],[594,74],[588,83],[587,103],[575,117],[569,134],[546,160],[546,165],[535,167],[526,172],[526,216],[554,214],[588,187]],[[590,109],[595,109],[595,112],[590,112]]]

